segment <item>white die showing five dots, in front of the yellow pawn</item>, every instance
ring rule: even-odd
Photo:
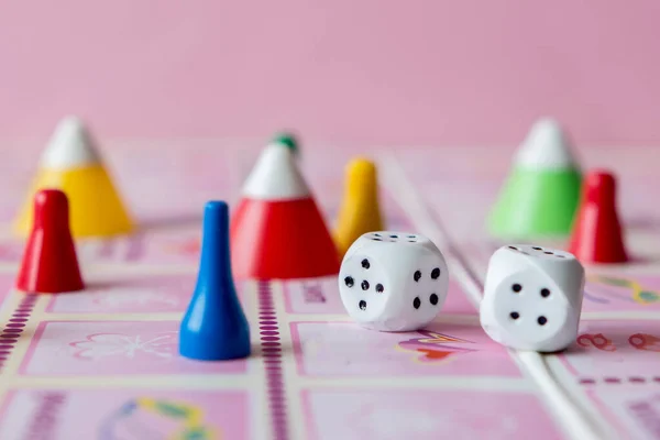
[[[349,248],[339,272],[344,308],[378,331],[424,328],[440,312],[448,288],[444,256],[417,233],[365,233]]]

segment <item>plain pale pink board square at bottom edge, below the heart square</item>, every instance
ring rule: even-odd
[[[501,405],[502,402],[506,405]],[[532,394],[472,389],[306,389],[302,403],[307,438],[315,440],[562,437]]]

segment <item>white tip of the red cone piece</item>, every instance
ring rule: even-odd
[[[299,199],[310,195],[290,148],[268,144],[248,176],[243,196],[254,199]]]

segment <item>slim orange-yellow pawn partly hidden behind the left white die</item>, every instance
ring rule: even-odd
[[[346,166],[344,198],[334,233],[340,256],[362,234],[383,229],[376,166],[364,158],[353,160]]]

